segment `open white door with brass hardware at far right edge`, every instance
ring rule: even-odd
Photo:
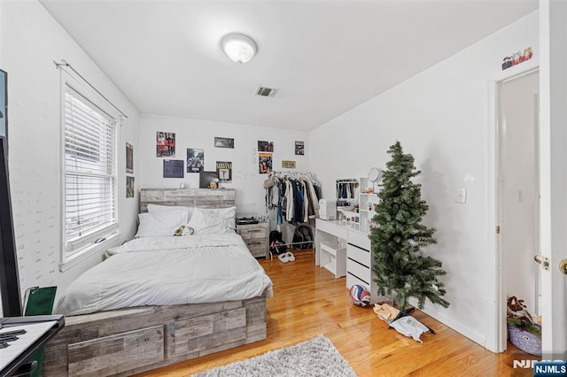
[[[567,2],[540,0],[542,358],[567,360]]]

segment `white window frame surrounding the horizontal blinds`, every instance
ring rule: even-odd
[[[119,195],[119,172],[118,172],[118,129],[120,124],[120,114],[108,104],[104,97],[97,93],[96,90],[82,83],[73,73],[67,72],[64,68],[59,69],[60,87],[59,87],[59,195],[60,195],[60,247],[59,247],[59,271],[64,272],[74,265],[79,265],[83,260],[96,255],[98,251],[105,250],[113,241],[120,237],[120,195]],[[71,88],[76,94],[82,96],[84,100],[93,104],[101,113],[110,119],[113,119],[113,135],[112,135],[112,190],[114,195],[114,219],[115,223],[108,227],[99,229],[93,234],[86,235],[89,239],[85,245],[75,247],[70,251],[67,248],[66,239],[66,88]],[[74,242],[82,243],[82,242]]]

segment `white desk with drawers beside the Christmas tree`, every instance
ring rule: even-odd
[[[346,288],[359,284],[369,289],[370,303],[383,301],[377,296],[372,275],[373,255],[369,228],[342,220],[315,220],[315,265],[321,265],[335,274],[346,276]]]

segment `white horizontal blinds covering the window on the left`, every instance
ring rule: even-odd
[[[115,121],[66,86],[66,256],[111,235],[118,227],[114,161]]]

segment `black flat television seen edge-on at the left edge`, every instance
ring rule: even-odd
[[[0,136],[0,295],[4,317],[22,315],[6,139]]]

